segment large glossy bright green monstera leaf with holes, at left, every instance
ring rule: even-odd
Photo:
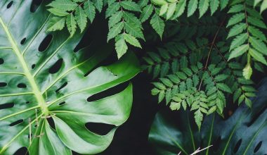
[[[45,5],[0,1],[0,154],[22,147],[34,155],[97,154],[129,117],[132,86],[96,101],[88,98],[131,79],[138,62],[128,54],[97,68],[112,47],[75,51],[83,34],[48,34]],[[99,135],[89,123],[115,128]]]

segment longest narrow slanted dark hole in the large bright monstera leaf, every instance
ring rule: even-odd
[[[129,83],[128,82],[124,82],[120,85],[117,85],[115,87],[112,87],[110,89],[107,89],[103,92],[100,92],[98,94],[94,94],[91,97],[87,98],[87,101],[91,102],[91,101],[97,101],[98,99],[103,99],[105,97],[110,97],[114,94],[117,94],[119,92],[122,92],[124,89],[126,89],[126,87],[128,87]]]

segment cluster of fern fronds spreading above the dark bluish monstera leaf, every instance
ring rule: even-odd
[[[226,32],[221,31],[225,37]],[[195,42],[185,39],[185,44],[181,44],[183,38],[179,33],[178,37],[165,44],[164,49],[144,57],[148,63],[145,68],[154,78],[159,77],[157,82],[152,82],[155,86],[152,95],[158,95],[159,102],[165,99],[172,110],[183,107],[194,111],[199,128],[204,114],[215,111],[223,114],[229,94],[233,94],[233,102],[245,101],[247,106],[252,106],[249,97],[255,96],[254,82],[242,76],[242,63],[227,61],[227,42],[210,46],[209,39],[197,38]]]

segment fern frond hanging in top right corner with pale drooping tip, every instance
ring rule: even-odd
[[[237,1],[231,6],[228,13],[234,15],[228,21],[230,32],[228,38],[234,37],[230,45],[230,56],[228,60],[247,55],[247,65],[243,69],[243,75],[249,79],[252,75],[252,60],[267,65],[266,58],[266,36],[260,29],[266,29],[261,15],[252,9],[251,1]]]

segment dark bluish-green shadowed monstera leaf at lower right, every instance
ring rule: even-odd
[[[230,118],[204,119],[200,132],[188,113],[157,113],[149,141],[157,154],[267,154],[267,79],[263,80],[252,109],[240,106]],[[167,114],[167,115],[166,115]],[[174,116],[170,115],[174,114]],[[179,115],[177,115],[179,114]],[[178,120],[181,120],[180,122]]]

